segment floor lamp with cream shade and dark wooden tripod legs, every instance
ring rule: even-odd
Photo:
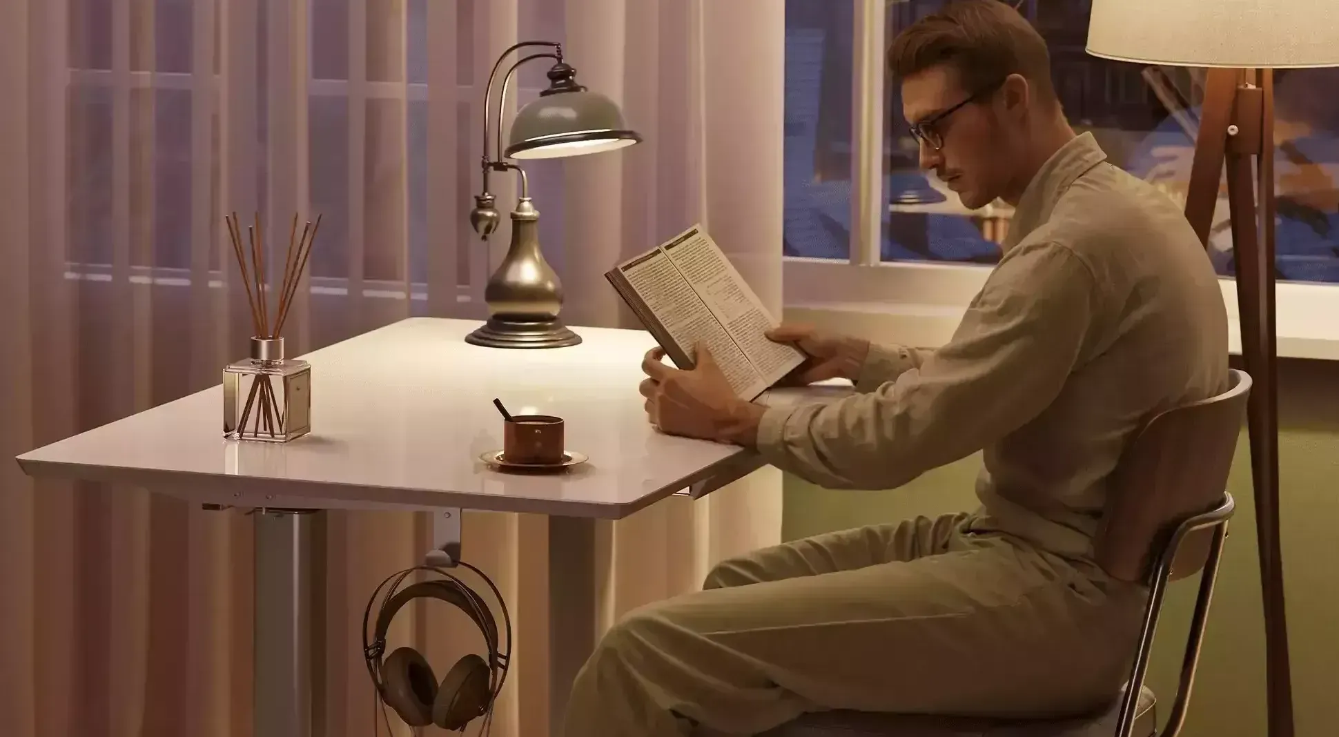
[[[1093,0],[1087,52],[1122,62],[1208,68],[1185,215],[1208,247],[1227,166],[1241,358],[1255,380],[1247,427],[1264,593],[1268,725],[1271,737],[1292,737],[1279,544],[1272,70],[1339,66],[1339,3]]]

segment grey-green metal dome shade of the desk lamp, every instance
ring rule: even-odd
[[[514,159],[580,156],[641,140],[609,98],[585,88],[548,90],[516,114],[506,155]]]

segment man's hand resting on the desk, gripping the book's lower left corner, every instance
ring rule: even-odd
[[[647,379],[639,391],[647,397],[651,424],[670,435],[753,445],[763,408],[735,396],[706,345],[698,345],[696,353],[692,371],[661,362],[665,353],[660,346],[641,358]]]

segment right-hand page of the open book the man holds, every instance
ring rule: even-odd
[[[803,362],[803,353],[793,345],[767,338],[765,333],[778,325],[777,320],[767,313],[758,296],[749,289],[749,282],[702,229],[688,230],[665,245],[664,250],[769,387]]]

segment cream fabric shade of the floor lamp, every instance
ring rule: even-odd
[[[1093,0],[1087,52],[1173,67],[1339,67],[1339,0]]]

